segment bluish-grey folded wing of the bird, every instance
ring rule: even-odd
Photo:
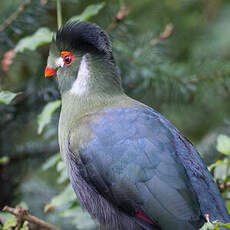
[[[84,177],[118,209],[134,217],[141,210],[163,229],[198,229],[209,206],[228,218],[199,154],[154,110],[104,109],[88,128],[92,135],[78,148]],[[199,194],[206,189],[208,197]]]

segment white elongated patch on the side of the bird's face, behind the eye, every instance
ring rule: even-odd
[[[75,95],[82,95],[86,93],[88,88],[89,77],[90,72],[88,68],[87,59],[85,56],[83,56],[78,70],[77,79],[74,81],[70,92]]]

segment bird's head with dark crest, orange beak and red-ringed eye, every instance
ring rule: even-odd
[[[53,36],[45,76],[57,76],[62,94],[121,90],[109,38],[90,22],[69,22]]]

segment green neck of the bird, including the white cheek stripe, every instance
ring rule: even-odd
[[[100,110],[124,97],[121,80],[113,60],[84,56],[78,76],[71,88],[62,94],[64,119],[76,120]],[[74,121],[69,121],[69,125]]]

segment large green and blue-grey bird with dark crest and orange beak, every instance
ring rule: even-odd
[[[109,36],[71,21],[53,35],[45,77],[62,108],[61,155],[77,199],[113,230],[195,230],[230,222],[193,144],[162,114],[127,96]]]

